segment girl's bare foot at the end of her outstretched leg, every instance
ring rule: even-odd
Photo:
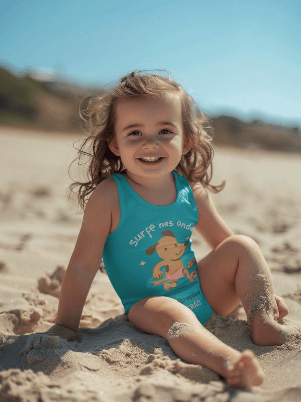
[[[251,350],[242,352],[235,362],[228,363],[226,382],[232,388],[259,386],[264,380],[263,371]]]

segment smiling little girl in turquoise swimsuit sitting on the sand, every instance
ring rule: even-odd
[[[288,309],[274,295],[262,253],[252,239],[232,233],[207,193],[223,187],[210,184],[208,120],[169,76],[137,71],[90,100],[87,115],[91,135],[80,153],[91,157],[90,180],[71,185],[79,185],[85,213],[48,333],[75,339],[103,257],[134,325],[166,338],[181,359],[211,368],[230,386],[260,385],[255,355],[232,349],[202,325],[212,311],[227,316],[242,302],[256,345],[288,340],[277,323]],[[212,249],[198,262],[192,228]]]

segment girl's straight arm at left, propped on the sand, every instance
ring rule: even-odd
[[[111,231],[112,212],[116,200],[118,202],[117,186],[114,183],[113,179],[103,181],[90,196],[64,275],[56,325],[50,331],[67,339],[75,338],[86,297],[99,269],[104,244]],[[117,198],[114,197],[116,191]]]

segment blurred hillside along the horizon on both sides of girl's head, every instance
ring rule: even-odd
[[[17,126],[61,132],[81,131],[80,100],[99,89],[49,77],[28,74],[15,77],[0,68],[0,126]],[[243,122],[235,117],[213,117],[214,143],[258,147],[285,152],[301,151],[298,127],[273,125],[261,120]]]

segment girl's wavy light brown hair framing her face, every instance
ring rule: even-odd
[[[146,74],[142,74],[143,72]],[[88,125],[89,136],[78,149],[79,155],[73,162],[79,160],[80,163],[84,156],[88,157],[85,162],[89,164],[88,181],[76,181],[69,186],[69,190],[78,194],[78,202],[83,210],[89,194],[101,181],[125,170],[120,157],[108,146],[115,135],[116,104],[121,98],[141,96],[156,96],[166,102],[180,99],[183,129],[191,149],[186,155],[182,155],[175,171],[189,181],[202,183],[211,192],[216,193],[223,189],[224,180],[219,186],[210,184],[214,153],[211,145],[213,130],[209,119],[200,111],[191,96],[169,75],[162,77],[135,70],[122,77],[117,86],[101,96],[91,98],[87,107],[80,113]],[[77,191],[74,191],[75,187],[79,187]]]

